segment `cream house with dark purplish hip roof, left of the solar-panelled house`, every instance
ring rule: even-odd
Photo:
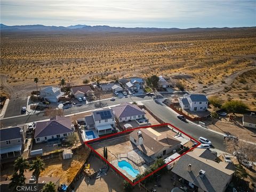
[[[74,133],[70,118],[55,116],[50,121],[37,122],[34,138],[36,143],[57,140]]]

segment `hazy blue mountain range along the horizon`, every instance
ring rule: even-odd
[[[57,26],[44,26],[44,25],[23,25],[23,26],[6,26],[1,23],[1,32],[15,33],[15,32],[47,32],[47,34],[57,33],[95,33],[95,32],[106,32],[106,33],[153,33],[153,32],[204,32],[204,31],[225,31],[225,30],[236,30],[236,29],[248,29],[255,27],[239,27],[239,28],[189,28],[189,29],[179,29],[179,28],[125,28],[125,27],[110,27],[110,26],[87,26],[87,25],[75,25],[68,27],[57,27]]]

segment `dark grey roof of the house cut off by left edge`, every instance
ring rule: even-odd
[[[21,139],[22,135],[20,133],[21,127],[9,127],[0,129],[0,141],[8,141],[12,139]]]

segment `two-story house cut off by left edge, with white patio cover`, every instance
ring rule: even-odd
[[[25,148],[26,125],[0,129],[1,159],[17,157]]]

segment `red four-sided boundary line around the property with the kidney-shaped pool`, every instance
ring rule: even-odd
[[[171,127],[173,127],[175,130],[179,131],[180,133],[182,134],[185,134],[187,137],[190,138],[190,140],[193,140],[195,142],[197,142],[197,145],[195,147],[192,147],[190,148],[188,151],[184,152],[183,154],[179,155],[178,157],[172,159],[172,161],[170,161],[169,163],[166,163],[164,164],[163,166],[159,167],[157,170],[149,173],[148,175],[146,175],[145,177],[143,177],[142,179],[136,181],[136,182],[132,182],[130,179],[128,179],[121,171],[119,171],[116,167],[114,167],[111,163],[109,163],[107,161],[107,159],[105,159],[104,157],[102,157],[95,149],[93,149],[92,146],[89,145],[90,142],[93,142],[93,141],[97,141],[97,140],[101,140],[101,139],[105,139],[105,138],[109,138],[111,136],[114,136],[114,135],[117,135],[117,134],[122,134],[122,133],[125,133],[125,132],[131,132],[131,131],[134,131],[134,130],[137,130],[137,129],[146,129],[146,128],[149,128],[149,127],[159,127],[159,126],[164,126],[164,125],[169,125]],[[97,154],[103,161],[105,161],[109,166],[111,166],[117,173],[119,173],[126,181],[128,181],[132,186],[135,186],[137,185],[139,182],[145,180],[146,178],[148,178],[150,175],[153,175],[154,173],[156,173],[157,171],[163,169],[165,166],[167,166],[168,164],[172,163],[173,161],[175,161],[176,159],[180,158],[182,155],[185,155],[186,153],[188,153],[189,151],[193,150],[194,148],[198,147],[199,145],[201,145],[201,142],[197,141],[196,139],[194,139],[193,137],[191,137],[190,135],[188,135],[187,133],[181,131],[180,129],[178,129],[177,127],[175,127],[174,125],[170,124],[170,123],[163,123],[163,124],[158,124],[158,125],[149,125],[149,126],[142,126],[142,127],[137,127],[137,128],[134,128],[134,129],[130,129],[130,130],[126,130],[126,131],[122,131],[122,132],[118,132],[118,133],[113,133],[113,134],[110,134],[110,135],[106,135],[106,136],[103,136],[101,138],[96,138],[96,139],[92,139],[90,141],[85,141],[84,142],[86,146],[88,146],[90,149],[92,149],[92,151]]]

